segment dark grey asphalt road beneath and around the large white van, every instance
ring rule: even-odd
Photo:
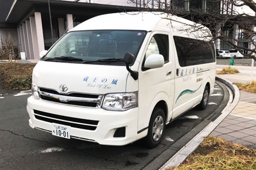
[[[0,96],[0,169],[158,169],[217,118],[229,98],[227,89],[217,83],[205,111],[186,112],[166,126],[157,148],[148,149],[143,140],[104,146],[32,129],[26,110],[30,95],[14,95]]]

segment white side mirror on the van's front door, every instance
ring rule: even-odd
[[[160,68],[164,66],[164,56],[161,54],[150,54],[144,63],[146,68]]]

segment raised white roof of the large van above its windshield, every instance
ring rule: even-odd
[[[194,24],[184,18],[168,15],[160,12],[128,12],[99,15],[84,21],[70,31],[80,30],[145,30],[151,31],[163,18],[167,18],[166,25],[170,25],[170,20],[179,23]]]

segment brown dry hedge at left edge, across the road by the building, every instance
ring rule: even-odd
[[[17,62],[0,63],[3,88],[13,90],[31,89],[34,67],[35,64],[22,64]]]

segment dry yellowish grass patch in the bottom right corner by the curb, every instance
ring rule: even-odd
[[[184,163],[170,169],[256,169],[256,150],[207,136]]]

